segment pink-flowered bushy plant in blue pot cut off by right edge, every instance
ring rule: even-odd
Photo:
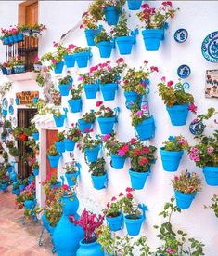
[[[199,143],[191,146],[188,155],[197,167],[203,168],[205,180],[210,186],[218,185],[218,131],[213,136],[201,135],[198,137]]]

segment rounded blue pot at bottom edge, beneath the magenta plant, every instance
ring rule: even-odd
[[[100,244],[93,242],[84,244],[83,240],[80,242],[80,247],[76,251],[76,256],[104,256],[104,251],[101,250]]]

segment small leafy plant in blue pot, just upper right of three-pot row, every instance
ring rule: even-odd
[[[95,37],[95,44],[99,49],[101,58],[109,58],[113,48],[112,36],[102,29]]]

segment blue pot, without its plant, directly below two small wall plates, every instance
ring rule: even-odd
[[[173,126],[185,126],[189,105],[174,105],[173,107],[166,107],[171,118]]]

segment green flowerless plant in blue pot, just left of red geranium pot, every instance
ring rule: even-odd
[[[96,190],[101,190],[107,187],[107,172],[105,170],[104,158],[99,158],[96,162],[90,163],[89,172],[91,172],[93,186]]]

